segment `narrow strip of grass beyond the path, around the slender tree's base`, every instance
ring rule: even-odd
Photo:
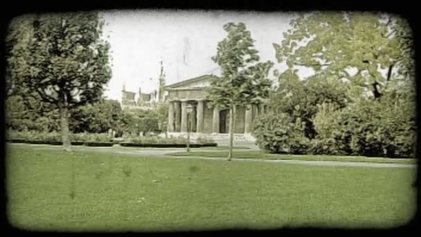
[[[169,156],[174,157],[227,157],[228,151],[190,151],[190,152],[171,152]],[[234,150],[233,157],[243,159],[296,159],[303,161],[355,161],[355,162],[373,162],[373,163],[394,163],[394,164],[416,164],[416,159],[391,159],[379,157],[339,157],[325,155],[281,155],[269,154],[261,150]]]

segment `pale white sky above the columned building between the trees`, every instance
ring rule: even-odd
[[[161,58],[167,85],[209,73],[218,75],[211,57],[216,54],[217,42],[226,36],[222,26],[227,22],[244,22],[256,40],[261,60],[271,60],[282,70],[272,43],[280,43],[294,15],[142,10],[103,12],[102,17],[106,23],[103,34],[111,44],[113,58],[106,95],[120,99],[123,83],[129,91],[155,89]]]

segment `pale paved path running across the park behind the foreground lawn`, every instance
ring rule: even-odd
[[[42,150],[60,150],[61,146],[49,146],[49,145],[28,145],[28,144],[13,144],[13,146],[33,146]],[[122,148],[118,146],[114,147],[84,147],[84,146],[73,146],[74,150],[86,151],[86,152],[112,152],[116,154],[124,155],[141,155],[145,157],[154,158],[171,158],[171,159],[206,159],[214,161],[225,161],[226,158],[219,157],[170,157],[167,155],[172,152],[186,151],[186,148]],[[192,148],[195,150],[195,148]],[[215,150],[202,150],[196,149],[203,152],[210,152]],[[247,150],[247,149],[237,149]],[[295,159],[242,159],[234,158],[233,162],[247,161],[247,162],[270,162],[276,164],[297,164],[307,166],[357,166],[357,167],[374,167],[374,168],[416,168],[415,164],[388,164],[388,163],[370,163],[370,162],[355,162],[355,161],[301,161]]]

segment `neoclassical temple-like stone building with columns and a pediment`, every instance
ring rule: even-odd
[[[229,132],[229,110],[214,109],[206,100],[206,88],[213,75],[200,76],[189,80],[167,85],[165,101],[169,103],[168,133],[181,134],[187,132],[187,105],[192,105],[192,131],[203,134],[224,134]],[[266,105],[237,107],[234,133],[250,134],[253,119],[267,110]]]

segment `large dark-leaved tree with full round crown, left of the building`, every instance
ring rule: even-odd
[[[99,100],[111,78],[102,25],[98,12],[36,15],[12,25],[26,33],[10,49],[10,85],[36,91],[43,102],[60,110],[67,151],[69,109]]]

